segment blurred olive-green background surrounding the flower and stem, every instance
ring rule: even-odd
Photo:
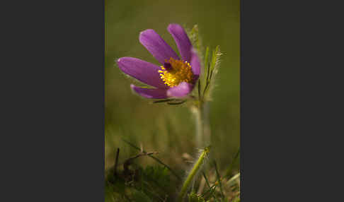
[[[132,79],[118,69],[115,60],[137,57],[158,64],[142,44],[139,32],[154,29],[178,53],[166,30],[169,23],[185,28],[197,24],[202,44],[220,45],[222,63],[210,103],[212,156],[220,168],[231,162],[240,144],[240,19],[239,0],[154,1],[105,0],[105,169],[113,166],[120,148],[120,162],[137,154],[121,139],[142,145],[172,168],[183,169],[183,154],[197,154],[195,123],[188,107],[151,104],[130,90]],[[154,164],[150,158],[139,158]],[[237,162],[236,168],[239,167]]]

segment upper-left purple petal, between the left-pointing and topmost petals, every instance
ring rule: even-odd
[[[139,42],[155,57],[157,61],[164,64],[165,59],[179,59],[178,54],[154,31],[144,30],[139,34]]]

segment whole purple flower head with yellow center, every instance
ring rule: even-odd
[[[139,35],[139,42],[161,66],[132,57],[121,57],[117,60],[117,65],[124,73],[154,87],[139,88],[134,84],[130,85],[143,97],[184,97],[193,90],[200,76],[200,59],[183,27],[170,24],[167,30],[176,41],[181,59],[154,30],[144,30]]]

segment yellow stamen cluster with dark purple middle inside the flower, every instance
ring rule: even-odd
[[[164,66],[160,66],[160,78],[170,87],[174,87],[181,82],[191,83],[193,81],[193,71],[187,61],[178,59],[165,60]]]

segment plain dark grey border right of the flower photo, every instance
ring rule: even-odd
[[[343,198],[331,182],[343,179],[343,12],[334,4],[241,0],[243,201]]]

